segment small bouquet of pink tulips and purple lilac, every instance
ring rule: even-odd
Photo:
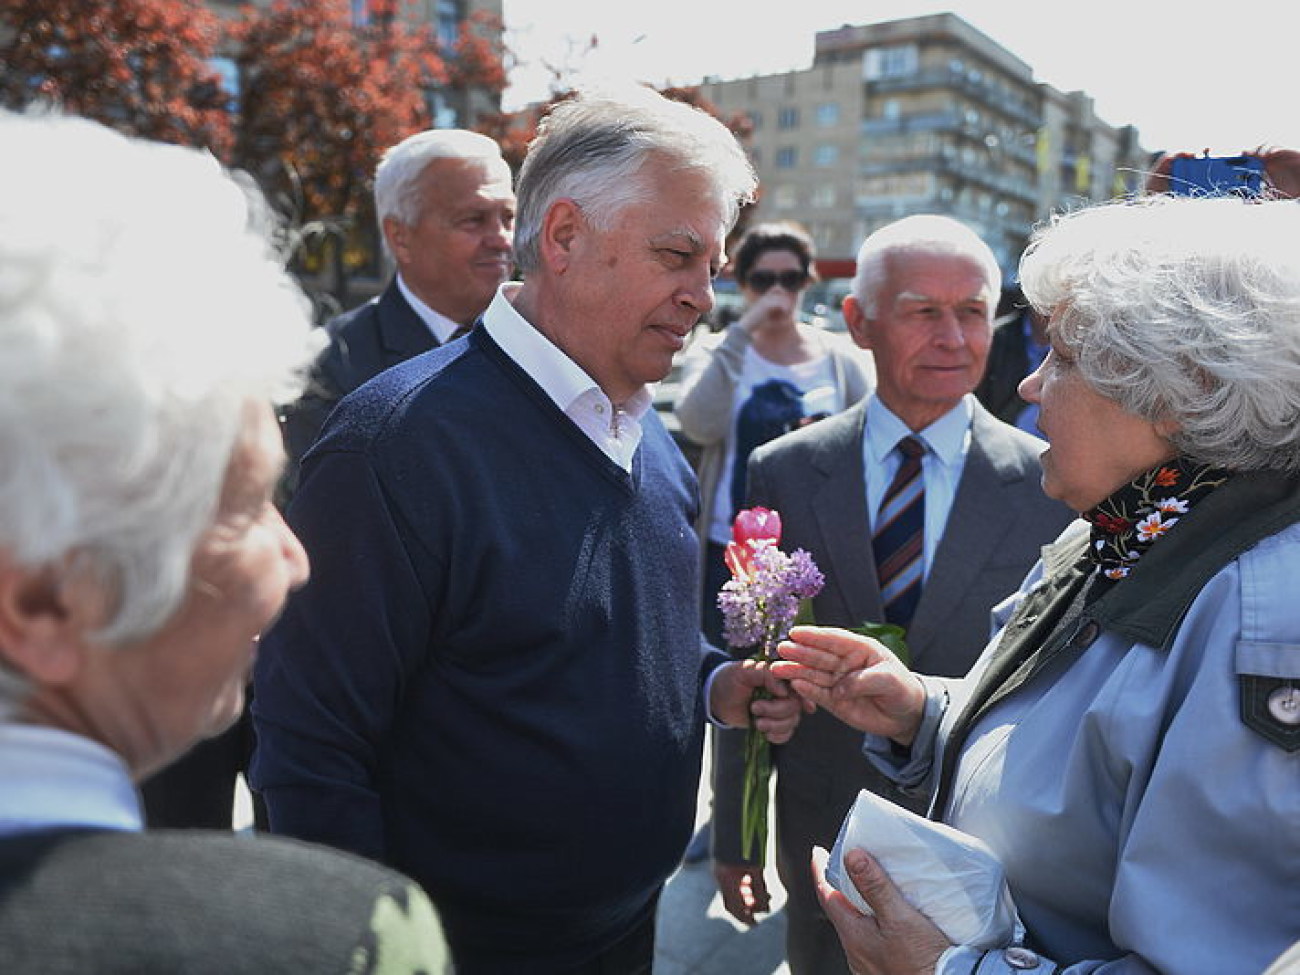
[[[727,545],[732,577],[718,594],[723,638],[755,660],[776,658],[776,645],[789,633],[801,604],[824,582],[812,556],[802,549],[783,552],[781,516],[768,508],[748,508],[736,516]],[[754,698],[766,698],[762,688]],[[767,797],[771,745],[750,718],[745,737],[741,850],[746,861],[763,864],[767,853]]]

